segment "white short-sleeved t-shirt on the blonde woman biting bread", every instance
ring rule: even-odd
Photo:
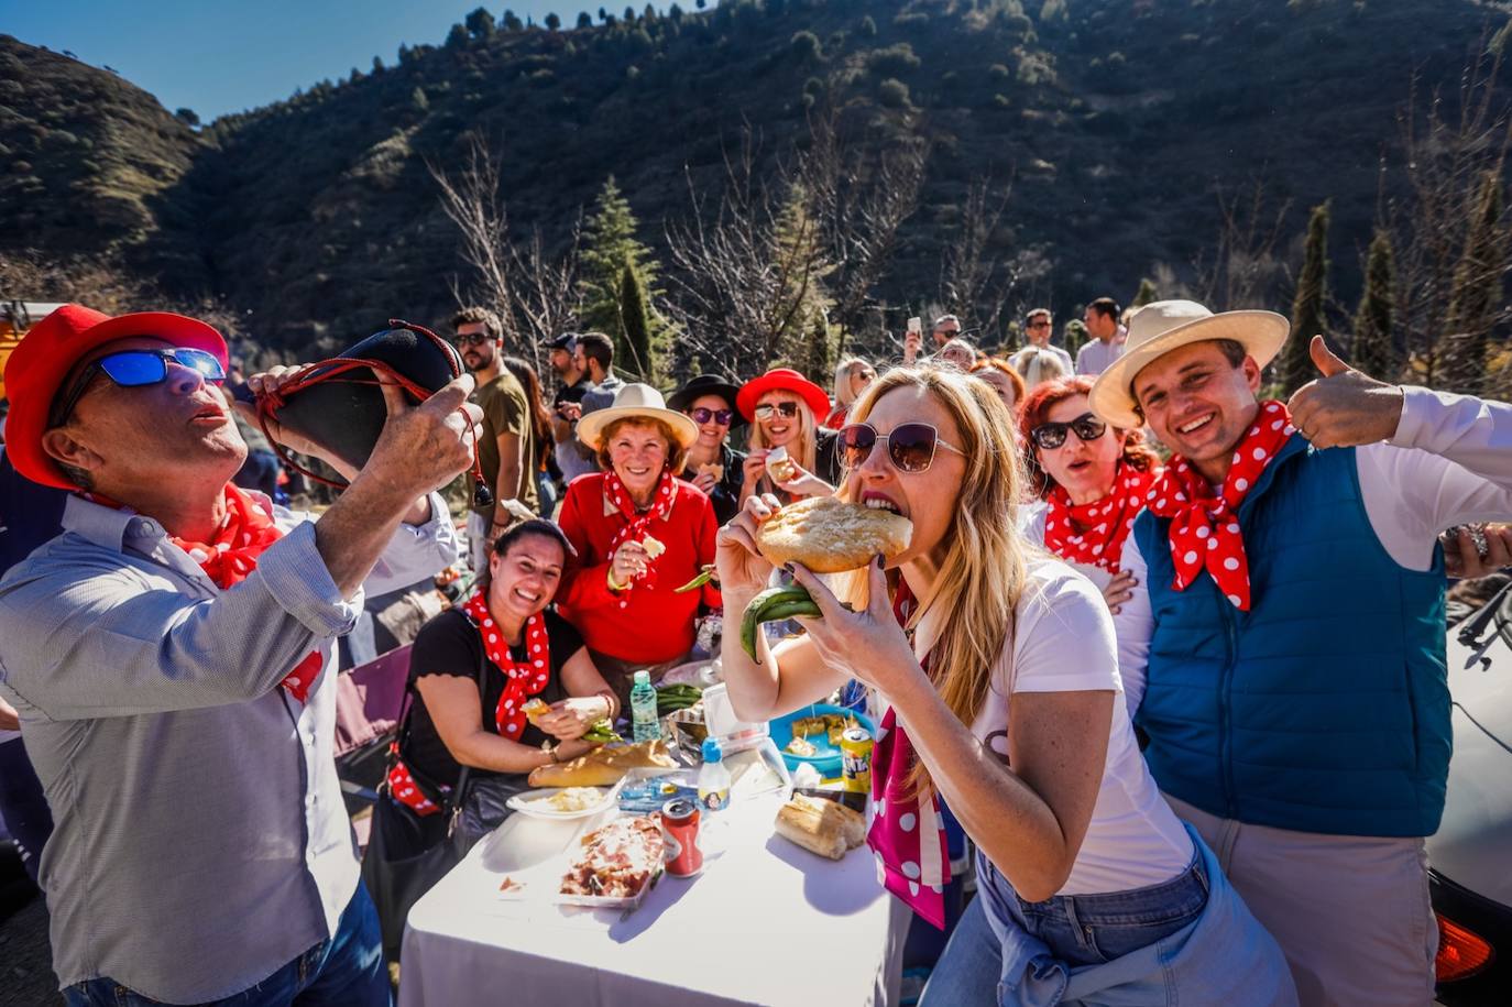
[[[925,614],[915,650],[927,653],[937,629]],[[972,733],[1007,761],[1009,703],[1015,693],[1123,691],[1113,617],[1090,581],[1054,558],[1030,561],[1015,631],[992,668],[992,688]],[[1155,786],[1122,702],[1113,705],[1102,786],[1087,836],[1058,895],[1122,892],[1160,885],[1191,863],[1191,839]]]

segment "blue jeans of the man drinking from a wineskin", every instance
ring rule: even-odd
[[[64,990],[67,1007],[145,1007],[160,1001],[135,993],[110,978]],[[322,940],[262,983],[213,1007],[390,1007],[393,987],[383,960],[378,910],[358,882],[336,934]]]

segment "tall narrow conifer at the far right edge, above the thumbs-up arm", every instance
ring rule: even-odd
[[[1501,307],[1507,234],[1501,224],[1500,165],[1480,177],[1473,210],[1448,295],[1442,370],[1444,387],[1467,395],[1485,392],[1486,351]]]

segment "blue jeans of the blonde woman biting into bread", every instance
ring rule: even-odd
[[[1111,962],[1169,937],[1198,919],[1208,904],[1208,878],[1201,859],[1160,885],[1027,903],[986,857],[978,856],[977,886],[983,894],[971,901],[956,925],[919,1007],[998,1002],[1002,948],[987,921],[989,903],[1005,906],[1013,924],[1043,940],[1051,954],[1072,968]]]

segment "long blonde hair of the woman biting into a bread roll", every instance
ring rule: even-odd
[[[945,705],[971,727],[987,700],[992,668],[1013,632],[1013,611],[1028,581],[1027,546],[1018,529],[1018,507],[1024,487],[1024,464],[1013,437],[1013,417],[986,381],[956,367],[924,364],[894,367],[874,381],[851,407],[851,420],[865,422],[881,396],[894,389],[927,392],[956,420],[966,472],[960,494],[947,507],[953,514],[945,529],[945,556],[939,562],[934,591],[919,599],[910,618],[916,626],[925,611],[939,614],[939,635],[930,650],[930,679]],[[839,496],[853,490],[850,473]],[[897,584],[891,575],[889,584]],[[868,572],[836,578],[836,596],[853,608],[866,603]],[[924,762],[909,776],[909,789],[930,788]]]

